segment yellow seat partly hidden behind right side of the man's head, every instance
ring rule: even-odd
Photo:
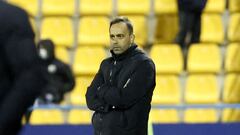
[[[144,16],[127,16],[133,24],[135,34],[135,43],[144,46],[148,40],[147,20]]]

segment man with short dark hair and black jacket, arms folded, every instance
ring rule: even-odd
[[[112,57],[102,61],[86,93],[94,134],[147,135],[155,65],[134,44],[127,18],[113,19],[109,32]]]

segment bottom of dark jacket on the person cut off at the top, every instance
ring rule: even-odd
[[[177,0],[180,11],[202,12],[207,0]]]

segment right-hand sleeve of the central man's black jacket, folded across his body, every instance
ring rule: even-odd
[[[99,93],[104,101],[119,109],[125,109],[150,92],[155,87],[155,66],[150,61],[144,61],[137,66],[136,71],[126,80],[123,87],[118,88],[104,84]]]

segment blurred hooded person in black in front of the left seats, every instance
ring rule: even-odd
[[[75,85],[71,68],[55,57],[54,43],[51,40],[41,40],[37,48],[39,56],[50,74],[50,83],[38,101],[40,104],[60,103],[64,94],[70,92]]]

